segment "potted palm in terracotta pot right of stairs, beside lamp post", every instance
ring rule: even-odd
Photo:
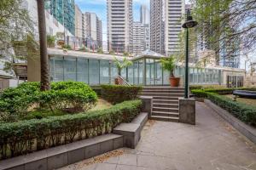
[[[175,59],[174,57],[169,57],[166,59],[161,59],[160,60],[162,67],[164,68],[164,70],[166,71],[170,71],[170,84],[172,87],[178,87],[179,86],[179,81],[180,81],[180,77],[175,77],[174,76],[174,69],[175,69]]]

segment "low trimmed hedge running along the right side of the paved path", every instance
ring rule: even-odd
[[[214,104],[236,116],[242,122],[256,126],[256,107],[237,103],[230,98],[203,90],[192,90],[196,97],[210,99]]]

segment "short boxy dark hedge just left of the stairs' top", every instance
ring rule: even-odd
[[[112,104],[137,99],[137,94],[143,89],[141,86],[102,85],[101,87],[102,99]]]

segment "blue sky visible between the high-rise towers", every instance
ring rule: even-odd
[[[146,4],[149,9],[150,0],[133,0],[133,18],[140,20],[140,6]],[[107,0],[75,0],[81,11],[96,13],[102,20],[103,41],[107,41]]]

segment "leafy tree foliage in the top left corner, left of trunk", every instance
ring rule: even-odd
[[[34,23],[22,0],[1,0],[0,3],[0,57],[12,55],[13,41],[23,40],[27,33],[33,34]]]

